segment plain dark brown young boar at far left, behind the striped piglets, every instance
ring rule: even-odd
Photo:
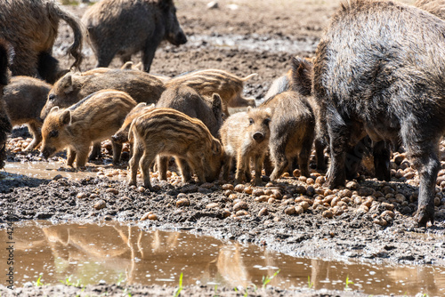
[[[51,84],[29,76],[12,76],[10,84],[4,87],[4,102],[12,126],[27,124],[33,135],[25,151],[36,148],[42,141],[40,129],[44,120],[40,117],[40,111],[51,88]]]

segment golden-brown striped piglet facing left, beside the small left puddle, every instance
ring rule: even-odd
[[[93,142],[113,135],[136,102],[125,92],[94,92],[69,108],[54,107],[42,126],[41,156],[48,158],[68,148],[67,165],[85,166]],[[113,142],[113,164],[120,158],[122,145]]]

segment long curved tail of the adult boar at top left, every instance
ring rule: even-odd
[[[61,9],[61,7],[54,2],[48,2],[47,4],[48,12],[54,20],[65,20],[69,27],[73,29],[74,33],[74,42],[69,46],[69,53],[75,59],[71,68],[79,69],[80,63],[84,59],[82,55],[82,45],[84,43],[85,36],[85,28],[81,24],[80,20],[77,19],[76,16],[69,12],[65,12]]]

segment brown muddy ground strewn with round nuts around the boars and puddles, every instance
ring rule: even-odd
[[[218,8],[207,9],[208,1],[176,1],[178,18],[189,37],[180,47],[163,44],[156,53],[151,72],[166,76],[199,68],[221,68],[239,76],[257,73],[245,86],[245,95],[261,100],[274,78],[289,68],[292,56],[312,57],[315,47],[339,1],[218,1]],[[413,1],[405,1],[411,3]],[[85,6],[67,6],[79,17]],[[62,24],[54,52],[61,65],[71,31]],[[236,42],[233,42],[236,41]],[[134,57],[139,61],[139,57]],[[93,52],[85,49],[82,70],[94,67]],[[114,60],[111,67],[121,66]],[[8,145],[10,162],[44,162],[30,154],[17,152],[25,144],[16,130]],[[26,138],[26,135],[25,135]],[[110,161],[104,145],[105,163]],[[14,149],[16,152],[14,152]],[[445,149],[441,149],[442,155]],[[55,160],[63,159],[60,154]],[[218,238],[263,245],[291,255],[336,260],[358,260],[395,264],[445,265],[445,157],[437,186],[436,217],[433,226],[417,228],[412,215],[417,207],[417,175],[403,154],[392,158],[392,181],[381,182],[363,171],[360,178],[344,189],[330,191],[322,186],[324,173],[311,177],[289,175],[264,187],[245,185],[233,189],[231,182],[204,185],[182,184],[172,173],[169,181],[154,184],[157,192],[128,187],[125,181],[112,181],[107,175],[125,176],[126,163],[118,168],[97,168],[90,164],[91,178],[53,181],[20,178],[0,173],[0,220],[7,220],[6,205],[13,204],[15,221],[126,221],[144,229],[183,229]],[[172,169],[173,170],[173,169]],[[99,173],[96,173],[99,172]],[[339,202],[340,201],[340,202]],[[295,206],[300,206],[296,207]],[[298,212],[303,210],[303,213]],[[150,219],[144,220],[151,212]],[[296,212],[296,213],[295,213]],[[331,218],[332,217],[332,218]],[[145,219],[144,218],[144,219]],[[128,289],[128,288],[127,288]],[[21,291],[20,291],[21,290]],[[59,290],[59,291],[58,291]],[[17,296],[72,295],[73,287],[22,288],[0,293]],[[117,285],[88,286],[82,294],[123,295]],[[128,291],[127,291],[128,292]],[[139,293],[172,295],[174,287],[132,286]],[[80,293],[77,290],[77,293]],[[251,295],[290,296],[298,292],[270,289]],[[301,293],[301,292],[300,292]],[[221,288],[220,295],[231,296],[232,288]],[[344,292],[303,295],[344,295]],[[361,295],[357,292],[348,293]],[[213,288],[192,286],[182,295],[214,295]],[[241,294],[242,295],[242,294]]]

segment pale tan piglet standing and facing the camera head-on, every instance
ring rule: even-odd
[[[228,181],[232,158],[236,157],[237,172],[235,182],[247,182],[252,179],[250,161],[255,164],[255,185],[261,185],[263,159],[269,146],[271,131],[271,108],[247,108],[247,112],[239,112],[229,116],[220,134],[226,154],[223,166],[223,179]]]

